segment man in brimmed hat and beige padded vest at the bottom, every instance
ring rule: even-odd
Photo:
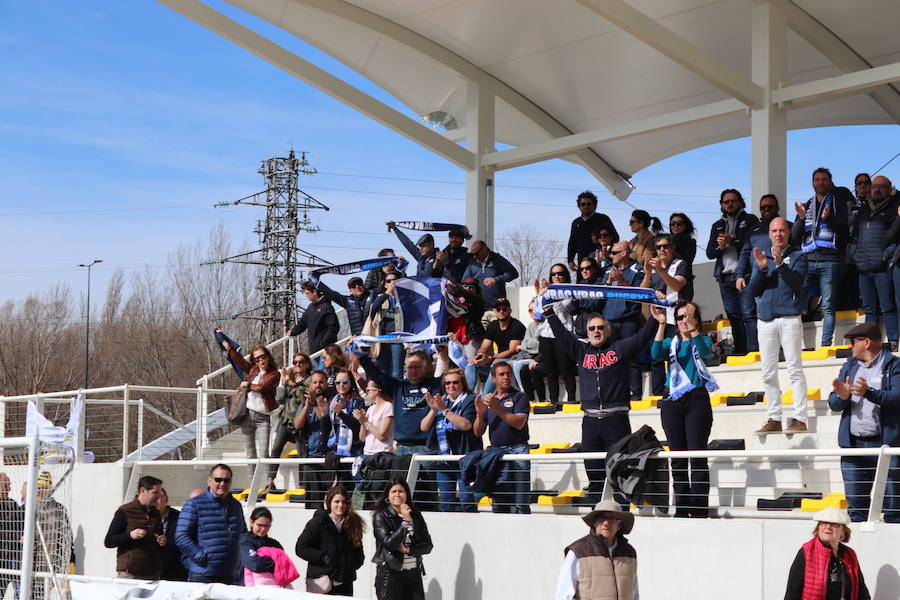
[[[582,519],[590,532],[566,547],[556,600],[638,600],[637,552],[625,539],[634,515],[604,500]]]

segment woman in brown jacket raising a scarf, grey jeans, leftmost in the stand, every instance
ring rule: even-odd
[[[241,382],[241,388],[247,390],[247,416],[241,421],[247,458],[265,458],[269,456],[272,415],[278,410],[278,402],[275,400],[275,389],[281,379],[278,364],[265,346],[254,346],[250,350],[252,364],[227,341],[222,342],[222,346],[234,364],[247,374],[247,379]],[[248,465],[247,468],[252,481],[254,467]]]

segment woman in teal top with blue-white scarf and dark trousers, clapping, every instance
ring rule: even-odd
[[[712,429],[709,393],[719,389],[706,368],[712,340],[701,335],[700,308],[693,302],[675,304],[678,329],[666,336],[660,323],[650,353],[669,362],[669,393],[659,403],[660,418],[671,450],[706,450]],[[688,461],[690,460],[690,471]],[[709,467],[705,458],[673,458],[676,517],[709,516]]]

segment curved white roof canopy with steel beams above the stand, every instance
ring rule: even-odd
[[[158,1],[467,170],[565,157],[622,199],[640,169],[750,135],[754,112],[782,132],[900,122],[896,0],[226,0],[440,133],[198,0]]]

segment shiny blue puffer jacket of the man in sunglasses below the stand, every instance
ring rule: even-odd
[[[206,490],[185,502],[175,543],[190,573],[227,577],[237,574],[240,537],[246,531],[240,502],[231,494],[219,502]]]

